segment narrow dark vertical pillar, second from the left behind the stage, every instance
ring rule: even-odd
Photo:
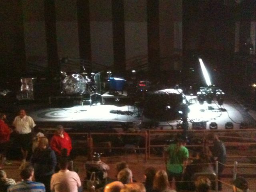
[[[44,18],[48,70],[51,79],[54,79],[57,78],[60,73],[60,61],[58,58],[56,35],[56,10],[54,0],[44,0]]]

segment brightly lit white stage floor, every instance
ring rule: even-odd
[[[216,102],[200,105],[196,97],[187,96],[191,103],[189,106],[188,122],[191,128],[192,122],[207,123],[207,129],[211,122],[218,124],[218,129],[224,129],[226,122],[232,122],[234,128],[239,128],[241,122],[255,126],[255,112],[246,110],[235,100],[225,100],[220,109]],[[223,110],[224,109],[224,110]],[[114,113],[112,113],[114,112]],[[43,108],[31,110],[28,115],[38,124],[44,122],[152,122],[152,120],[138,115],[138,109],[134,106],[114,105],[78,105],[70,108]],[[171,128],[180,123],[179,120],[158,122],[159,126]]]

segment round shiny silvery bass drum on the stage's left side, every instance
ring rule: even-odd
[[[68,75],[62,81],[62,89],[68,95],[84,94],[86,93],[86,80],[80,74]]]

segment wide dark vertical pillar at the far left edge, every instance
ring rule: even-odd
[[[22,1],[0,1],[0,18],[0,80],[20,86],[12,78],[18,80],[26,72]]]

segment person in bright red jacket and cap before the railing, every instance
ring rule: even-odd
[[[66,152],[66,156],[70,155],[72,150],[71,138],[68,133],[65,132],[62,125],[57,126],[56,133],[52,136],[50,147],[56,153],[56,156],[63,156],[63,151]]]

